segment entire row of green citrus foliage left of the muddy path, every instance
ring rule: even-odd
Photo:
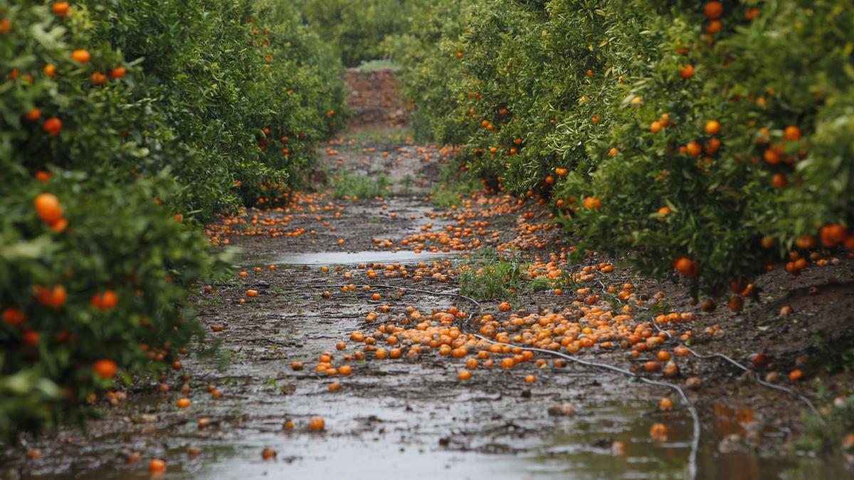
[[[180,368],[230,263],[190,220],[282,196],[340,70],[284,3],[0,0],[0,434]]]

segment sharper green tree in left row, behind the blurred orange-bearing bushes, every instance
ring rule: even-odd
[[[209,218],[284,186],[346,120],[340,62],[287,3],[85,3],[92,34],[138,59],[137,81],[190,151],[149,159],[176,168],[187,211]]]

